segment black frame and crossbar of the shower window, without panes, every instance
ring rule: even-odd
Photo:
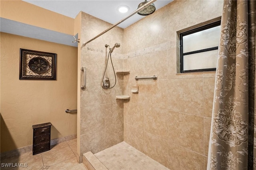
[[[195,69],[195,70],[183,70],[183,56],[184,56],[184,54],[185,55],[190,55],[190,54],[202,53],[202,52],[212,51],[212,50],[218,49],[218,46],[216,46],[216,47],[210,47],[210,48],[206,48],[206,49],[201,49],[201,50],[196,50],[196,51],[190,51],[190,52],[187,52],[187,53],[183,53],[183,37],[186,36],[186,35],[190,35],[192,33],[204,31],[206,29],[219,26],[220,23],[221,23],[221,20],[218,20],[218,21],[209,23],[207,25],[203,25],[201,27],[197,27],[195,29],[191,29],[191,30],[180,33],[180,73],[216,71],[216,67],[215,68]]]

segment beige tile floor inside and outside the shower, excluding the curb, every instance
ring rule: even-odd
[[[1,160],[2,163],[19,163],[27,167],[0,167],[1,170],[88,170],[76,160],[76,139],[55,145],[46,152],[32,152]],[[144,153],[125,142],[102,150],[95,156],[108,170],[168,170]]]

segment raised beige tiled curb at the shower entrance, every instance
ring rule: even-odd
[[[91,151],[83,154],[83,164],[88,170],[108,170]]]

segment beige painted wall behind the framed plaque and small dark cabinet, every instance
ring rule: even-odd
[[[76,133],[77,48],[1,33],[1,152],[32,145],[32,125],[52,123],[51,139]],[[20,48],[56,53],[56,80],[19,80]]]

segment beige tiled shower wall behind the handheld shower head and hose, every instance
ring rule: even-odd
[[[111,25],[98,18],[82,13],[81,41],[86,42]],[[81,66],[86,67],[86,90],[80,91],[80,156],[91,151],[97,153],[124,141],[124,117],[122,100],[116,96],[123,94],[124,80],[117,75],[116,86],[112,89],[101,87],[102,75],[109,48],[121,43],[112,53],[116,70],[123,70],[123,29],[115,27],[81,49]],[[110,59],[106,76],[114,85],[114,73]],[[82,77],[81,77],[82,79]]]

